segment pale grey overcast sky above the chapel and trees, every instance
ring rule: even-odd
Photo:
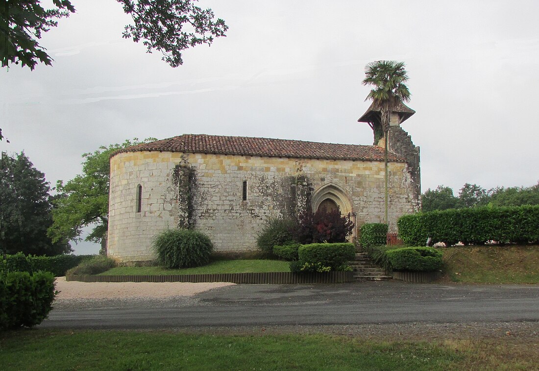
[[[203,0],[230,30],[171,68],[122,39],[114,0],[72,0],[41,44],[53,66],[0,70],[0,127],[54,185],[81,154],[181,134],[372,144],[370,61],[404,61],[421,187],[539,181],[539,2]],[[93,253],[97,245],[74,246]]]

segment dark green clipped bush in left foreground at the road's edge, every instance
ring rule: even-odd
[[[50,272],[0,272],[0,329],[39,325],[55,295]]]

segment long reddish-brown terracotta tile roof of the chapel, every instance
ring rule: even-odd
[[[333,143],[306,142],[301,140],[248,138],[245,136],[221,136],[184,134],[127,147],[114,153],[160,151],[183,153],[213,153],[226,155],[294,157],[329,160],[384,161],[384,149],[377,146],[339,145]],[[389,161],[406,162],[404,157],[389,153]]]

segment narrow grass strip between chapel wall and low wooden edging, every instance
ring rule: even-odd
[[[158,266],[150,267],[116,267],[101,273],[109,274],[208,274],[208,273],[256,273],[256,272],[289,272],[289,262],[282,260],[215,260],[208,265],[183,268],[165,269]]]

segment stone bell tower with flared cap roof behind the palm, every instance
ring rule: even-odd
[[[419,168],[419,147],[414,146],[412,138],[400,127],[400,124],[410,118],[416,111],[407,107],[403,102],[393,107],[388,130],[388,150],[403,156],[408,164],[408,172],[414,184],[417,200],[421,195],[421,177]],[[374,133],[374,145],[384,147],[384,130],[382,128],[381,112],[376,103],[372,103],[358,122],[367,122]]]

